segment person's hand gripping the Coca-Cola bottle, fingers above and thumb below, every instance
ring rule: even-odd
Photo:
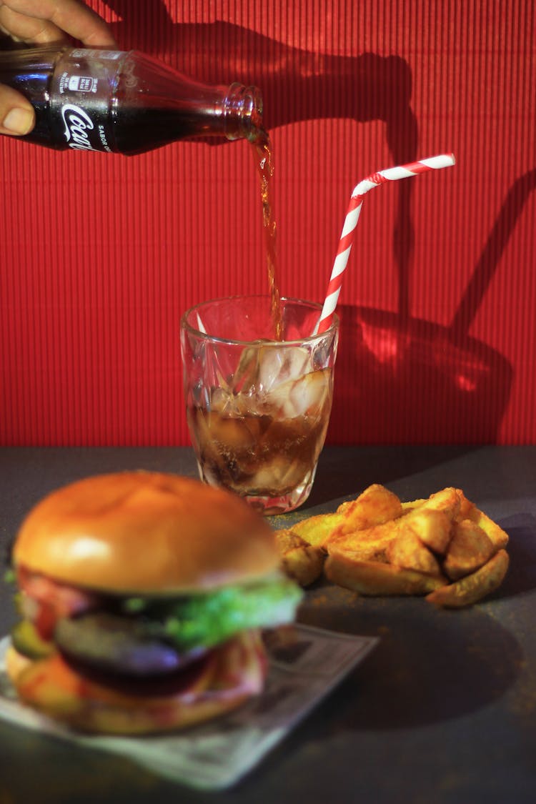
[[[88,47],[117,47],[104,19],[82,0],[0,0],[0,31],[15,42],[79,39]],[[0,133],[27,134],[35,113],[20,92],[0,84]]]

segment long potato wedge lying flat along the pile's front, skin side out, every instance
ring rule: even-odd
[[[439,589],[445,582],[395,564],[363,561],[346,550],[327,557],[325,575],[333,584],[370,596],[424,595]]]

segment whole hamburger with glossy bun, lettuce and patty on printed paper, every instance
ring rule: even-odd
[[[21,619],[6,671],[25,704],[84,732],[186,727],[258,694],[261,630],[292,621],[301,599],[260,515],[171,474],[55,490],[12,561]]]

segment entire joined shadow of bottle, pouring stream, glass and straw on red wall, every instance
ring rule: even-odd
[[[164,2],[108,0],[120,17],[121,46],[158,51],[182,72],[211,84],[256,84],[268,130],[320,118],[383,121],[393,164],[411,162],[419,134],[411,109],[411,68],[399,56],[305,51],[232,23],[174,23]],[[145,17],[144,17],[145,15]],[[145,19],[145,24],[143,20]],[[424,154],[428,155],[428,154]],[[342,306],[329,440],[344,443],[494,442],[509,400],[509,362],[468,334],[516,220],[536,187],[530,170],[510,187],[450,326],[411,318],[414,246],[411,193],[398,183],[392,251],[397,312]],[[351,379],[350,379],[351,378]]]

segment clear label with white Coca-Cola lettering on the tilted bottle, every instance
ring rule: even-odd
[[[59,61],[51,84],[55,137],[72,150],[117,150],[110,115],[122,51],[79,48]]]

